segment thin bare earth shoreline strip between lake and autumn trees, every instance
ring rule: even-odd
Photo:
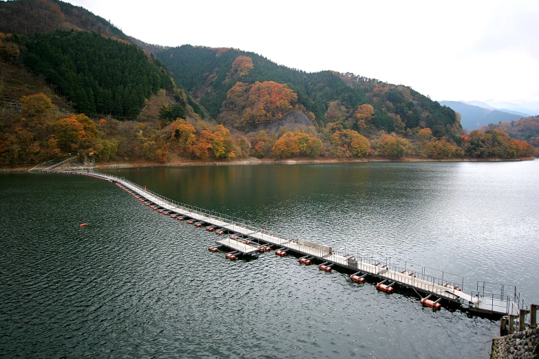
[[[96,164],[96,169],[109,169],[109,168],[145,168],[145,167],[182,167],[182,166],[253,166],[253,165],[272,165],[272,164],[334,164],[334,163],[366,163],[366,162],[520,162],[520,161],[533,161],[533,157],[520,157],[515,159],[500,159],[500,158],[447,158],[444,160],[435,160],[432,158],[420,158],[420,157],[401,157],[397,160],[391,160],[387,157],[371,156],[368,158],[290,158],[288,160],[273,160],[273,159],[260,159],[255,157],[249,157],[244,160],[235,161],[200,161],[200,160],[187,160],[177,159],[168,162],[154,162],[154,161],[114,161],[102,164]],[[30,168],[35,166],[31,164],[28,166],[0,166],[0,172],[28,172]],[[81,168],[89,169],[90,166],[60,166],[62,168]]]

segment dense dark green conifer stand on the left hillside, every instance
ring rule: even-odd
[[[54,32],[19,38],[23,63],[70,98],[79,113],[136,117],[160,88],[173,90],[162,67],[135,45],[95,32]]]

